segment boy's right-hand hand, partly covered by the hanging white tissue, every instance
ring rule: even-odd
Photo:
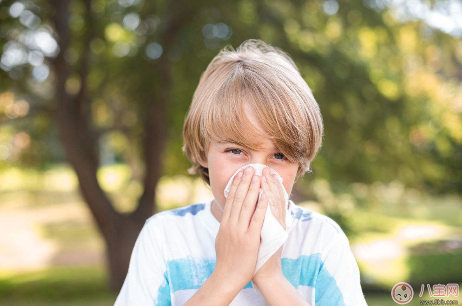
[[[263,189],[263,194],[266,194],[269,199],[268,205],[271,208],[271,213],[285,230],[285,200],[284,193],[282,191],[283,187],[277,180],[276,175],[271,175],[268,168],[263,169],[263,178],[261,180],[260,188]],[[282,247],[283,245],[264,263],[260,269],[258,269],[255,276],[252,278],[252,281],[255,284],[258,284],[258,282],[264,282],[264,280],[271,277],[283,276],[281,264]]]

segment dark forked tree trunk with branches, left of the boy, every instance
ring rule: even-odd
[[[69,32],[69,0],[54,0],[51,2],[55,12],[52,16],[54,28],[58,36],[60,50],[69,47],[71,35]],[[145,117],[143,144],[144,144],[144,191],[138,201],[138,207],[131,213],[120,214],[116,212],[104,191],[101,189],[96,172],[99,166],[96,148],[96,133],[90,125],[90,97],[87,94],[87,78],[90,65],[90,43],[94,39],[94,18],[92,16],[91,0],[85,0],[86,31],[83,41],[84,51],[80,64],[79,91],[71,96],[66,90],[66,80],[69,78],[69,64],[64,52],[52,60],[56,71],[55,96],[57,101],[56,122],[59,126],[59,137],[66,151],[67,159],[74,168],[80,191],[88,204],[96,224],[104,237],[107,247],[107,259],[110,272],[110,288],[120,290],[128,270],[131,251],[135,240],[147,218],[156,213],[153,206],[155,187],[162,174],[158,161],[162,160],[167,137],[166,106],[169,103],[169,93],[172,84],[171,66],[167,59],[160,59],[157,67],[139,62],[137,67],[143,78],[150,80],[151,73],[159,73],[162,77],[151,94],[146,94],[144,101]],[[173,8],[177,11],[162,27],[160,42],[164,52],[172,46],[173,38],[178,29],[191,17],[193,11],[189,4],[174,2]],[[154,70],[154,71],[153,71]],[[143,87],[144,89],[149,87]]]

